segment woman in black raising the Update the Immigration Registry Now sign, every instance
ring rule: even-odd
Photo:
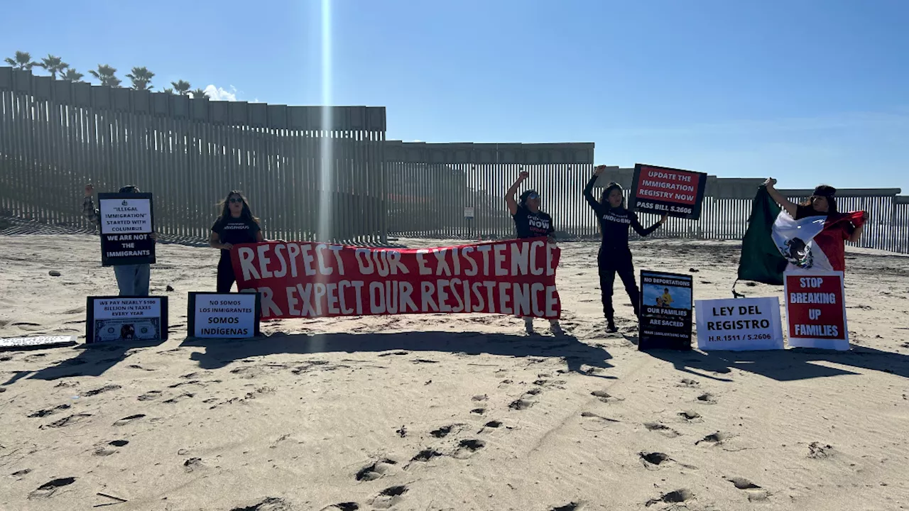
[[[622,186],[617,183],[610,183],[606,186],[603,195],[597,201],[593,193],[594,184],[605,168],[605,165],[599,165],[594,169],[594,176],[584,186],[584,199],[596,212],[596,218],[600,222],[600,231],[603,234],[603,242],[596,260],[600,270],[600,292],[603,294],[606,330],[617,332],[613,310],[613,284],[616,272],[622,278],[625,291],[631,298],[634,316],[640,314],[640,291],[634,281],[634,263],[631,259],[631,249],[628,248],[628,228],[634,227],[634,231],[639,235],[649,235],[663,225],[666,215],[663,215],[663,218],[656,224],[645,229],[638,221],[637,215],[625,208]]]

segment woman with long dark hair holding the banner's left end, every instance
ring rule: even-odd
[[[221,249],[221,260],[218,262],[218,293],[230,293],[236,277],[234,266],[230,262],[230,249],[241,243],[265,241],[259,219],[253,216],[246,197],[236,190],[227,194],[222,203],[221,216],[212,225],[212,235],[208,245]]]

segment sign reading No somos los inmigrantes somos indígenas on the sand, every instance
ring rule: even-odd
[[[190,293],[189,336],[230,338],[259,336],[258,293]]]

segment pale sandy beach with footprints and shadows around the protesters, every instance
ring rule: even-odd
[[[907,256],[848,251],[850,352],[642,353],[620,282],[604,333],[592,243],[562,244],[564,337],[424,315],[279,320],[252,341],[186,340],[218,252],[161,244],[170,339],[87,347],[85,296],[116,294],[98,245],[0,235],[0,334],[80,336],[0,352],[0,509],[909,507]],[[738,242],[632,250],[693,275],[695,299],[731,297]]]

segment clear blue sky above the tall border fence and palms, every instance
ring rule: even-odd
[[[909,193],[907,0],[335,0],[325,81],[319,0],[8,4],[3,56],[384,105],[389,139],[594,142],[606,165]]]

